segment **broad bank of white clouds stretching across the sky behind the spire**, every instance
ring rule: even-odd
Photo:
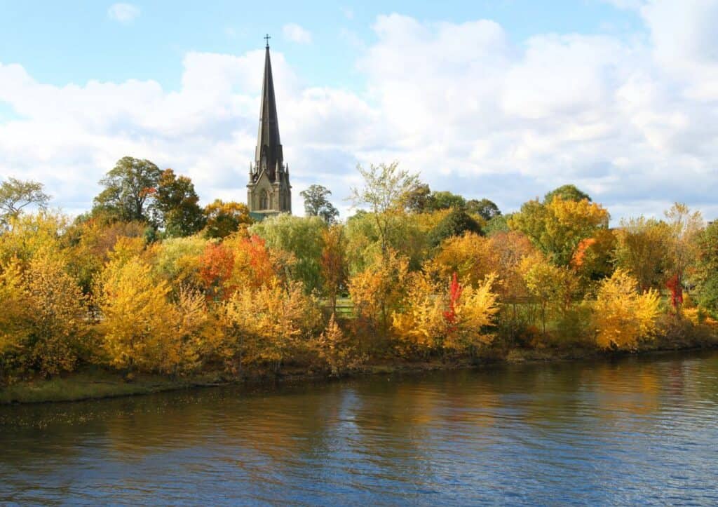
[[[342,207],[357,162],[398,159],[436,190],[504,210],[574,182],[616,219],[661,215],[673,200],[718,218],[714,11],[679,5],[687,11],[646,4],[650,39],[537,34],[521,45],[486,20],[379,17],[357,65],[363,93],[302,87],[301,70],[273,52],[295,212],[308,185],[327,185]],[[205,202],[243,200],[263,57],[190,52],[177,91],[152,80],[57,87],[0,64],[0,104],[14,112],[0,121],[0,177],[43,181],[82,211],[94,182],[132,155],[190,175]]]

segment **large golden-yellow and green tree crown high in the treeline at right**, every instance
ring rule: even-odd
[[[558,266],[568,266],[579,243],[608,227],[608,212],[588,200],[564,200],[556,195],[545,204],[531,200],[514,213],[508,225],[526,234]]]

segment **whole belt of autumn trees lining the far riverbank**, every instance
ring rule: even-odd
[[[317,185],[304,218],[200,208],[189,178],[131,157],[75,220],[46,209],[39,183],[2,182],[0,380],[87,363],[340,374],[716,334],[718,225],[684,205],[612,229],[572,185],[503,215],[397,164],[359,172],[344,222]]]

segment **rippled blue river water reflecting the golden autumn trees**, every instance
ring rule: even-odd
[[[718,353],[0,407],[0,502],[718,503]]]

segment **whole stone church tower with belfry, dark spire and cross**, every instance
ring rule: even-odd
[[[261,108],[259,109],[259,132],[254,162],[249,167],[247,205],[257,218],[277,213],[292,213],[292,186],[289,185],[289,166],[284,164],[284,154],[279,140],[279,121],[276,117],[274,81],[269,60],[269,35],[264,56],[264,83]]]

